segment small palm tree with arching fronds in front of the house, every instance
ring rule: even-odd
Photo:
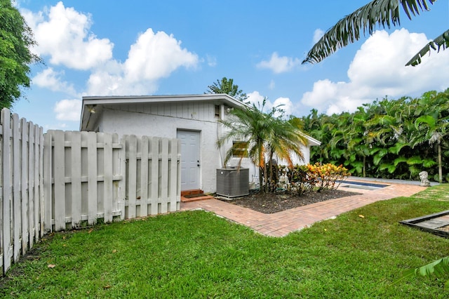
[[[234,157],[235,150],[245,152],[253,164],[259,167],[259,182],[263,191],[267,191],[269,188],[266,169],[267,156],[269,157],[269,169],[272,167],[274,154],[292,164],[292,154],[302,157],[301,145],[306,142],[297,119],[292,118],[286,121],[281,117],[276,117],[281,112],[279,107],[273,107],[269,112],[263,112],[266,101],[267,99],[264,99],[262,107],[259,108],[253,104],[252,107],[246,109],[233,109],[230,112],[231,117],[229,119],[220,120],[220,123],[227,130],[217,141],[217,145],[220,147],[229,140],[245,141],[235,143],[235,146],[239,147],[237,149],[235,146],[229,148],[225,157],[225,164]],[[241,148],[242,146],[245,148]],[[243,157],[241,155],[239,165]]]

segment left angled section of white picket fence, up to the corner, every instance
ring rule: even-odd
[[[43,130],[1,110],[0,265],[4,272],[43,237]]]

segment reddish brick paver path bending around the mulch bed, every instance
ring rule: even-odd
[[[260,234],[283,237],[290,232],[308,227],[314,222],[335,217],[341,213],[354,210],[354,208],[394,197],[408,197],[425,188],[418,185],[388,183],[387,187],[377,190],[351,189],[350,191],[361,193],[361,195],[330,199],[274,214],[260,213],[250,208],[243,208],[218,199],[182,202],[180,210],[189,211],[201,208],[228,220],[246,225]],[[347,188],[344,190],[347,190]]]

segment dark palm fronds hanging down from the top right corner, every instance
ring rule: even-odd
[[[361,38],[361,32],[373,34],[376,26],[390,27],[400,25],[399,6],[401,5],[407,17],[411,20],[412,15],[419,15],[420,11],[429,11],[429,5],[436,0],[374,0],[358,8],[354,13],[347,15],[337,22],[333,27],[321,37],[321,39],[311,48],[302,64],[318,63],[330,54],[354,43]],[[436,37],[425,45],[406,65],[419,65],[422,56],[426,55],[430,49],[440,51],[449,46],[449,30]]]

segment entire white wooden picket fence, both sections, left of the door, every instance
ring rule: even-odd
[[[48,131],[0,119],[0,265],[48,232],[180,208],[177,139]]]

